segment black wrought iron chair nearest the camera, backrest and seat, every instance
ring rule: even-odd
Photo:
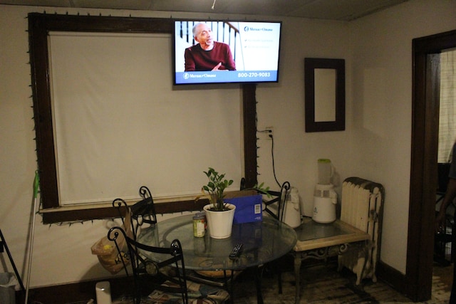
[[[169,247],[148,246],[128,237],[120,227],[111,228],[108,239],[114,241],[119,252],[123,250],[123,239],[128,246],[128,256],[120,258],[123,263],[129,258],[133,268],[135,304],[140,304],[146,296],[154,303],[162,304],[187,304],[189,298],[201,299],[202,303],[207,303],[204,299],[210,299],[210,303],[224,303],[229,298],[226,290],[187,280],[184,254],[178,239],[172,241]],[[160,262],[152,261],[142,253],[151,253]]]

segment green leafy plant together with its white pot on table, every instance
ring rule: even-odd
[[[202,187],[202,192],[209,196],[210,204],[203,207],[206,211],[209,236],[213,239],[226,239],[231,236],[234,210],[236,206],[223,201],[224,190],[233,184],[232,179],[225,179],[225,174],[220,174],[213,168],[204,171],[209,181]]]

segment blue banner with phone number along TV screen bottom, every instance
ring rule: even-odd
[[[223,70],[207,72],[176,73],[176,84],[190,83],[262,83],[276,81],[276,70],[259,70],[254,72]]]

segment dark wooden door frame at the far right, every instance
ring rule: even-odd
[[[430,298],[437,189],[439,54],[456,47],[456,31],[413,39],[412,150],[405,293]]]

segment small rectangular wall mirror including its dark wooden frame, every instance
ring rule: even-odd
[[[345,60],[304,59],[306,132],[345,130]]]

